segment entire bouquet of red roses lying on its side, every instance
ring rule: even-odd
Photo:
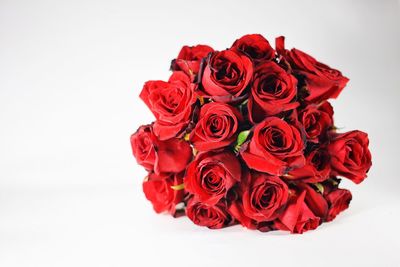
[[[145,83],[156,121],[131,137],[156,212],[302,233],[348,207],[337,176],[362,182],[371,154],[366,133],[334,127],[327,99],[348,81],[338,70],[259,34],[224,51],[184,46],[171,70]]]

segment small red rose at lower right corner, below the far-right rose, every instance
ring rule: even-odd
[[[349,190],[335,189],[326,196],[326,199],[329,203],[329,211],[325,221],[330,222],[349,207],[352,196]]]

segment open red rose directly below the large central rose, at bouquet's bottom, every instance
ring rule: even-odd
[[[257,229],[261,223],[276,219],[289,196],[287,185],[277,176],[252,172],[240,183],[241,200],[232,202],[229,211],[242,225]]]

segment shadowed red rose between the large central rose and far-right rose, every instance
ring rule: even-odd
[[[328,151],[317,147],[306,155],[306,164],[303,167],[293,169],[285,175],[287,180],[301,180],[307,183],[318,183],[329,179],[331,162]]]

